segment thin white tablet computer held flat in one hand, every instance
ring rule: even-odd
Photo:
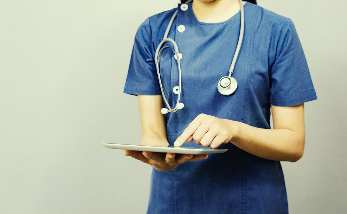
[[[224,153],[228,149],[213,149],[213,148],[196,148],[188,146],[171,146],[171,145],[135,145],[135,144],[115,144],[115,143],[103,143],[107,148],[115,149],[127,149],[135,151],[146,152],[164,152],[164,153],[176,153],[176,154],[214,154]]]

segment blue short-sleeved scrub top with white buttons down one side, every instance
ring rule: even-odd
[[[154,54],[168,23],[178,10],[169,38],[178,44],[184,108],[165,114],[173,145],[194,118],[209,114],[270,129],[270,106],[293,106],[315,100],[305,55],[290,19],[246,3],[244,39],[236,61],[234,94],[217,90],[227,76],[240,32],[240,12],[221,23],[199,22],[192,10],[178,8],[147,18],[139,27],[124,92],[160,95]],[[179,25],[185,31],[178,32]],[[172,46],[164,44],[163,46]],[[175,106],[178,69],[171,49],[160,62],[164,92]],[[201,147],[195,143],[189,146]],[[266,160],[232,143],[223,154],[187,162],[169,172],[153,169],[147,213],[288,213],[286,187],[279,161]]]

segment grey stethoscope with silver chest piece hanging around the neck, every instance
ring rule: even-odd
[[[189,0],[187,1],[186,3],[189,3],[189,2],[192,2],[193,0]],[[232,62],[231,62],[231,66],[230,66],[230,69],[229,69],[229,74],[228,76],[225,76],[225,77],[222,77],[218,84],[217,84],[217,89],[219,91],[219,93],[223,94],[223,95],[230,95],[232,93],[235,92],[236,88],[237,88],[237,82],[236,82],[236,79],[234,77],[231,77],[231,74],[232,72],[234,71],[234,67],[235,67],[235,63],[236,63],[236,59],[237,59],[237,56],[238,56],[238,53],[240,51],[240,48],[241,48],[241,44],[242,44],[242,39],[243,39],[243,33],[244,33],[244,25],[245,25],[245,20],[244,20],[244,11],[243,11],[243,3],[242,3],[242,0],[239,0],[240,1],[240,13],[241,13],[241,26],[240,26],[240,36],[239,36],[239,39],[238,39],[238,43],[237,43],[237,46],[236,46],[236,51],[235,51],[235,54],[234,54],[234,58],[232,59]],[[181,5],[181,8],[182,6],[183,7],[186,7],[186,5],[184,6],[185,4]],[[158,45],[158,48],[156,49],[155,51],[155,57],[154,57],[154,60],[155,60],[155,65],[156,65],[156,73],[158,74],[158,79],[159,79],[159,84],[160,84],[160,89],[161,89],[161,93],[163,95],[163,99],[166,103],[166,105],[168,106],[169,109],[166,109],[166,108],[162,108],[161,109],[161,113],[163,114],[166,114],[168,112],[176,112],[178,111],[179,109],[182,109],[184,107],[184,104],[183,103],[180,103],[179,102],[179,99],[180,99],[180,96],[181,96],[181,85],[182,85],[182,78],[181,78],[181,66],[180,66],[180,63],[181,63],[181,59],[182,59],[182,54],[179,53],[178,51],[178,46],[176,44],[176,42],[174,40],[172,40],[171,38],[167,38],[168,34],[169,34],[169,31],[170,31],[170,28],[171,28],[171,25],[172,23],[174,22],[175,18],[177,16],[177,10],[175,12],[175,14],[171,17],[171,20],[169,22],[169,25],[168,27],[166,28],[166,31],[165,31],[165,34],[164,34],[164,38],[163,40],[160,42],[160,44]],[[172,43],[172,45],[174,45],[174,49],[172,49],[171,47],[169,46],[166,46],[164,48],[161,48],[161,46],[165,43],[165,42],[170,42]],[[166,96],[164,94],[164,91],[163,91],[163,86],[161,84],[161,78],[160,78],[160,72],[159,72],[159,62],[160,62],[160,57],[161,57],[161,54],[163,53],[164,49],[166,48],[171,48],[172,51],[175,53],[175,59],[177,60],[177,65],[178,65],[178,78],[179,78],[179,84],[178,84],[178,97],[177,97],[177,103],[176,103],[176,106],[175,108],[171,109],[167,99],[166,99]]]

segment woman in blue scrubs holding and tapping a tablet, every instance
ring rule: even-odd
[[[303,103],[316,94],[291,20],[240,2],[179,4],[137,31],[124,92],[138,95],[141,143],[228,149],[209,156],[125,150],[154,167],[147,213],[288,213],[279,161],[303,155]],[[179,51],[160,44],[170,20],[167,38]],[[231,94],[220,92],[223,77],[232,87],[236,81]],[[182,109],[161,113],[178,99]]]

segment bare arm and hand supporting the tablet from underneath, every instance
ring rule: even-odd
[[[141,144],[169,145],[166,137],[165,118],[161,113],[163,100],[161,95],[147,96],[138,95],[140,109],[142,138]],[[150,164],[156,170],[170,171],[179,164],[187,161],[198,161],[206,159],[207,154],[190,155],[159,152],[141,152],[125,150],[124,155],[131,156],[139,161]]]

